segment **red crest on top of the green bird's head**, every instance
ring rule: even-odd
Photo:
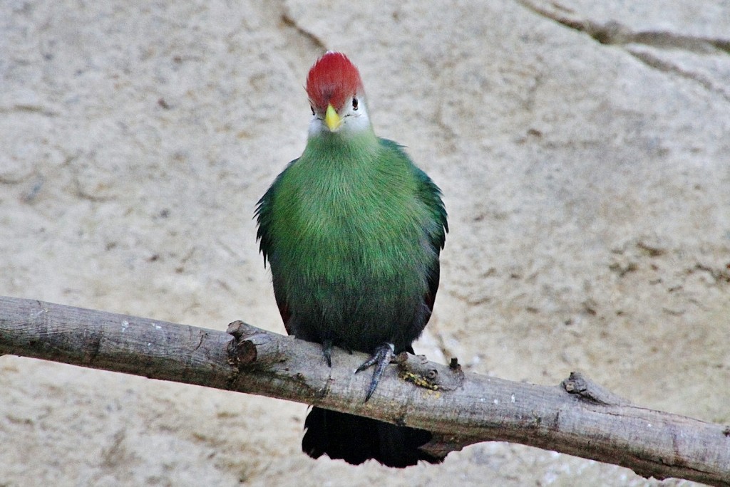
[[[318,112],[325,112],[328,104],[339,112],[345,102],[363,92],[358,69],[342,52],[326,52],[307,75],[307,95]]]

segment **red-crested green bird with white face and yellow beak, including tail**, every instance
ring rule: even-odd
[[[439,187],[404,147],[375,135],[363,81],[342,52],[307,74],[307,144],[258,200],[256,238],[289,335],[371,354],[369,400],[395,354],[429,322],[448,232]],[[442,458],[420,450],[431,432],[314,407],[302,450],[361,464],[408,467]]]

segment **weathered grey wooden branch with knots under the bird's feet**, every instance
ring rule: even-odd
[[[499,440],[629,467],[645,477],[730,486],[730,427],[639,408],[580,374],[537,386],[401,354],[369,402],[362,354],[234,322],[228,332],[0,297],[0,355],[55,360],[261,394],[428,429],[445,456]],[[1,400],[1,399],[0,399]]]

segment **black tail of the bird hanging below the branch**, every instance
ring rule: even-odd
[[[443,461],[418,448],[431,440],[431,433],[425,429],[396,426],[322,408],[312,408],[304,429],[301,449],[313,459],[325,454],[353,465],[375,459],[387,467],[399,468],[415,465],[419,460],[432,464]]]

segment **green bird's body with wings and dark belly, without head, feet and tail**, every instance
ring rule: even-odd
[[[410,347],[431,314],[447,231],[439,188],[371,130],[310,137],[258,202],[288,332],[372,352]]]

